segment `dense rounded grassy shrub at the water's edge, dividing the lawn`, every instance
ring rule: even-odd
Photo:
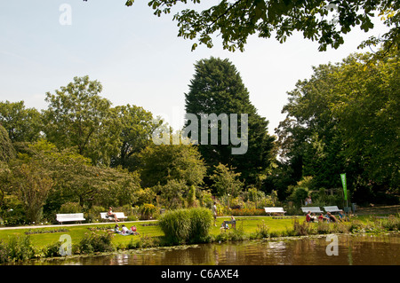
[[[196,242],[205,238],[212,224],[212,213],[207,208],[183,208],[166,212],[159,225],[165,240],[171,244]]]

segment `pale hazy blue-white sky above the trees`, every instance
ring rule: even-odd
[[[258,114],[274,134],[287,103],[287,91],[310,78],[312,67],[336,63],[360,51],[357,46],[387,28],[376,20],[364,33],[358,27],[339,49],[320,52],[318,43],[293,34],[285,43],[252,35],[244,52],[225,51],[219,38],[209,49],[178,37],[172,14],[156,17],[148,1],[19,0],[0,3],[0,101],[23,100],[26,107],[47,108],[55,93],[89,75],[99,81],[100,96],[113,106],[142,106],[161,115],[174,130],[183,125],[185,93],[200,59],[229,59],[240,73]],[[370,51],[369,49],[364,51]]]

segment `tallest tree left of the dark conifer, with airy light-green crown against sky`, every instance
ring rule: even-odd
[[[76,146],[93,164],[108,165],[120,145],[121,125],[111,103],[100,97],[101,90],[101,83],[86,75],[75,77],[55,95],[47,92],[44,133],[60,149]]]

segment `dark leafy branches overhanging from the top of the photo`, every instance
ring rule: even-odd
[[[125,5],[132,6],[133,0]],[[148,5],[157,16],[170,13],[177,4],[200,4],[200,0],[151,0]],[[319,43],[319,51],[327,46],[338,48],[344,43],[343,35],[359,27],[364,32],[373,28],[372,18],[379,16],[390,28],[381,38],[372,37],[364,44],[384,43],[386,48],[399,48],[400,4],[394,0],[384,1],[289,1],[289,0],[222,0],[203,11],[184,9],[173,16],[178,22],[178,35],[198,39],[198,43],[212,47],[212,35],[219,33],[224,49],[244,50],[249,35],[276,37],[284,43],[288,36],[298,31],[309,40]],[[194,43],[192,50],[196,49]]]

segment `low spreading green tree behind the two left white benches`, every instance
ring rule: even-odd
[[[52,190],[44,204],[45,212],[57,211],[68,201],[78,202],[84,209],[93,205],[132,204],[140,189],[137,173],[93,166],[90,159],[76,153],[75,148],[60,150],[46,140],[39,140],[32,145],[20,145],[18,151],[18,164],[36,162],[39,172],[43,170],[52,179]]]

